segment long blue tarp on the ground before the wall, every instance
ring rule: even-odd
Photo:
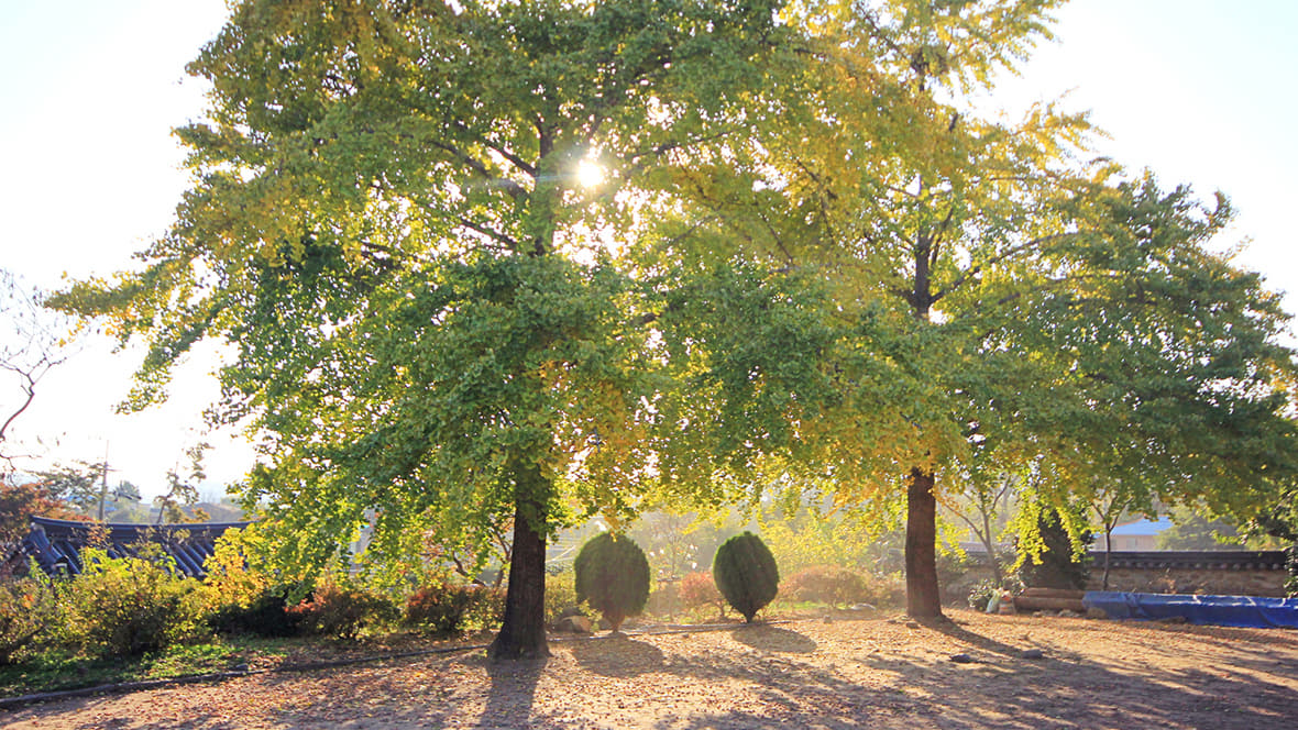
[[[1081,600],[1088,608],[1102,608],[1110,618],[1184,617],[1211,626],[1298,629],[1298,598],[1088,591]]]

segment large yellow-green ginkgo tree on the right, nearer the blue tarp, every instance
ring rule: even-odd
[[[789,3],[806,62],[767,89],[768,134],[674,171],[679,226],[718,241],[678,267],[742,257],[832,300],[840,398],[790,415],[776,478],[898,506],[916,617],[941,616],[937,507],[979,480],[1250,519],[1294,478],[1289,315],[1221,253],[1228,200],[1093,159],[1085,114],[985,112],[1060,4]]]

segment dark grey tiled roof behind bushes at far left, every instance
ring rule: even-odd
[[[135,555],[144,543],[154,543],[175,559],[178,571],[192,578],[206,573],[202,563],[213,554],[213,543],[230,528],[249,523],[200,523],[173,525],[116,525],[32,517],[31,534],[22,542],[22,551],[36,559],[49,574],[82,572],[80,551],[92,539],[106,538],[112,558]]]

